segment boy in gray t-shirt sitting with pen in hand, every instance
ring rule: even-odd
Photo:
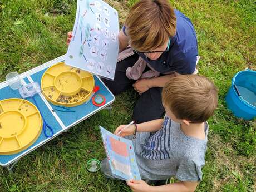
[[[136,134],[134,149],[141,177],[163,180],[175,176],[179,182],[150,186],[143,180],[130,180],[134,192],[195,191],[205,165],[208,123],[218,105],[218,90],[204,76],[180,75],[163,88],[164,119],[129,126],[120,125],[115,134]]]

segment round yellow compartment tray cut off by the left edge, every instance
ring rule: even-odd
[[[42,131],[37,107],[23,99],[0,101],[0,155],[16,154],[33,144]]]

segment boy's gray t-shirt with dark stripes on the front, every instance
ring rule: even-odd
[[[160,180],[175,176],[180,181],[201,181],[207,134],[207,122],[205,139],[201,140],[186,136],[180,124],[168,116],[159,131],[137,133],[133,142],[141,177]]]

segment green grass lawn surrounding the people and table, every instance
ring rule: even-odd
[[[107,0],[120,26],[135,0]],[[225,95],[231,79],[248,66],[256,70],[256,4],[253,0],[183,0],[171,3],[193,22],[198,36],[199,73],[219,87],[219,106],[209,120],[203,181],[196,191],[255,191],[256,121],[235,118]],[[75,0],[0,0],[0,80],[66,53]],[[88,173],[88,159],[105,158],[98,125],[114,131],[131,121],[137,95],[127,91],[106,110],[72,127],[23,157],[14,174],[0,168],[0,191],[130,191],[124,183]]]

